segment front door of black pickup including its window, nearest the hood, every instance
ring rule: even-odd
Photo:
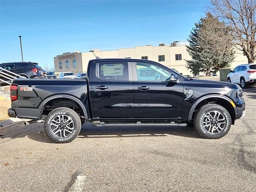
[[[150,61],[132,62],[134,71],[134,118],[176,118],[182,112],[181,79],[170,83],[172,70]],[[177,74],[176,74],[177,75]]]

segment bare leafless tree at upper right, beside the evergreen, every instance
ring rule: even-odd
[[[213,12],[230,26],[233,44],[248,63],[256,61],[256,0],[211,0]]]

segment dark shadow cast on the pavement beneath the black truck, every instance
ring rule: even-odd
[[[31,140],[53,143],[44,133],[44,124],[35,123],[28,126],[20,124],[1,130],[4,139],[0,139],[0,144],[8,142],[10,139],[28,137]],[[82,126],[78,138],[128,138],[128,137],[165,137],[168,135],[182,136],[188,138],[200,138],[196,130],[192,127],[176,126],[104,126],[96,127],[92,123]]]

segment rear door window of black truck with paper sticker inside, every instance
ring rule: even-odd
[[[128,81],[128,62],[99,62],[97,77],[108,81]]]

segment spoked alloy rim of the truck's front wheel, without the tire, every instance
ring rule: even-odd
[[[210,111],[203,117],[203,127],[210,134],[218,134],[224,130],[226,118],[219,111]]]

